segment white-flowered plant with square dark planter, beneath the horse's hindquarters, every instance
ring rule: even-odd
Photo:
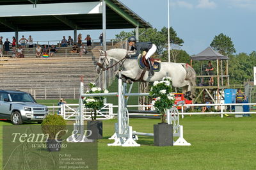
[[[175,101],[175,97],[172,94],[172,79],[170,77],[164,77],[162,81],[155,81],[150,89],[150,97],[156,99],[154,107],[157,109],[161,118],[161,123],[154,125],[154,145],[172,146],[172,125],[166,123],[166,111],[172,108]]]

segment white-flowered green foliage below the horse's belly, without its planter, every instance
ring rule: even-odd
[[[161,116],[161,123],[166,122],[166,111],[172,108],[175,97],[172,94],[172,79],[164,77],[162,81],[155,81],[150,89],[150,97],[156,98],[154,107]]]

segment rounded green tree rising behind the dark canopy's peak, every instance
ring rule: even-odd
[[[230,56],[236,53],[236,49],[234,48],[234,44],[231,38],[229,36],[223,35],[223,33],[218,36],[214,36],[211,42],[211,47],[224,56]]]

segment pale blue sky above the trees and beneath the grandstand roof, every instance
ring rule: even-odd
[[[137,13],[142,19],[160,30],[168,27],[168,0],[119,0]],[[188,54],[198,54],[209,47],[214,36],[223,33],[231,38],[239,52],[250,54],[256,50],[256,0],[169,0],[170,26],[177,36],[184,40],[181,49]],[[131,29],[123,29],[131,31]],[[122,29],[111,29],[107,39],[115,38]],[[98,39],[101,30],[77,31],[83,38],[87,34]],[[0,33],[4,38],[12,38],[15,33]],[[73,36],[73,31],[22,32],[19,38],[29,35],[35,41],[61,40],[62,36]]]

